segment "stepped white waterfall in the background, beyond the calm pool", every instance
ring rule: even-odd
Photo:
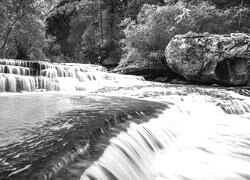
[[[134,81],[144,78],[108,73],[105,68],[91,64],[0,60],[0,92],[87,91],[104,84]]]

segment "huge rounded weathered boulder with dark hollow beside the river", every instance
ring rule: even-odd
[[[168,66],[188,80],[222,85],[245,85],[250,62],[250,36],[197,34],[176,35],[167,45]]]

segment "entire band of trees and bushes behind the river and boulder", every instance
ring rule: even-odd
[[[247,0],[1,0],[0,57],[162,60],[176,34],[250,33],[249,7]]]

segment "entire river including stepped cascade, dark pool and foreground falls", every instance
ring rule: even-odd
[[[0,61],[1,180],[250,179],[250,98]]]

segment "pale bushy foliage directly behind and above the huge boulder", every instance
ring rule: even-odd
[[[136,20],[125,19],[122,23],[125,25],[123,59],[131,58],[131,52],[139,52],[144,58],[164,58],[164,49],[171,38],[188,31],[249,33],[249,17],[247,8],[220,10],[211,2],[205,1],[169,2],[165,6],[146,4]]]

